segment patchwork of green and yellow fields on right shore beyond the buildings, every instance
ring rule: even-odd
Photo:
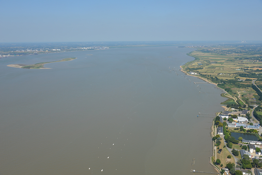
[[[261,104],[258,94],[252,88],[255,76],[250,78],[243,76],[259,75],[261,80],[258,79],[256,83],[262,89],[260,45],[201,47],[188,55],[195,60],[182,66],[184,71],[198,73],[197,76],[217,83],[218,87],[225,89],[229,94],[227,98],[230,99],[222,104],[231,106],[237,104],[244,108],[252,104]]]

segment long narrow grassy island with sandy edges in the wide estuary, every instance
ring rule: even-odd
[[[25,64],[10,64],[7,65],[8,67],[16,67],[16,68],[23,68],[23,69],[51,69],[51,68],[46,68],[44,67],[45,64],[48,63],[54,63],[54,62],[63,62],[63,61],[72,61],[76,58],[64,58],[59,61],[51,61],[51,62],[42,62],[42,63],[36,63],[36,64],[31,64],[31,65],[25,65]]]

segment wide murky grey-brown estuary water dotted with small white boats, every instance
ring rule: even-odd
[[[0,174],[216,172],[209,164],[210,116],[226,99],[215,85],[179,71],[194,59],[186,55],[192,50],[157,46],[0,59]],[[7,66],[68,57],[77,59],[45,65],[52,69]]]

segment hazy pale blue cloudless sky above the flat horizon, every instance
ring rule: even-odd
[[[0,0],[0,42],[262,40],[262,0]]]

